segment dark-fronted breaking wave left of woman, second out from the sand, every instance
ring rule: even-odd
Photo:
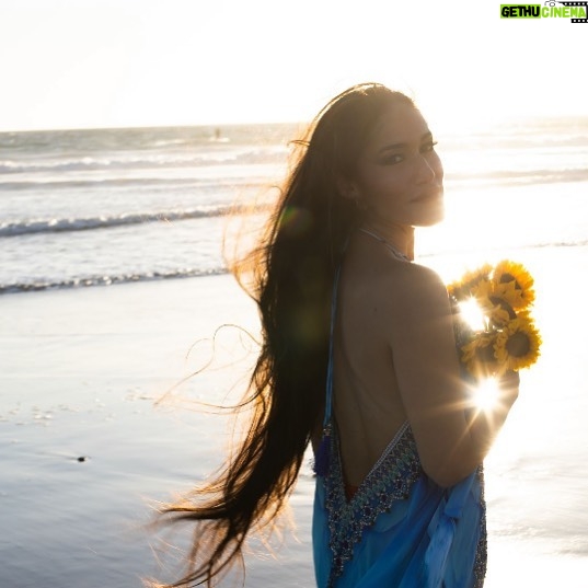
[[[164,210],[160,212],[122,214],[90,218],[27,219],[19,222],[0,223],[0,238],[20,237],[36,233],[58,233],[109,229],[128,224],[148,222],[174,222],[198,218],[222,217],[231,214],[257,212],[263,205],[243,206],[209,206],[192,210]]]

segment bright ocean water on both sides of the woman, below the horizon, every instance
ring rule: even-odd
[[[0,134],[0,292],[226,272],[231,206],[279,183],[300,128]],[[448,221],[420,253],[584,246],[587,128],[541,119],[437,137]]]

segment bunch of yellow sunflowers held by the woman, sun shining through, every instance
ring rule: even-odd
[[[521,264],[485,264],[450,284],[448,292],[458,315],[460,359],[470,374],[500,376],[537,361],[541,336],[530,313],[533,278]],[[468,321],[472,310],[476,318]]]

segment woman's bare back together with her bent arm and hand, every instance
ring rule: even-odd
[[[500,381],[492,418],[471,413],[447,290],[430,269],[351,240],[337,296],[333,406],[346,482],[358,486],[402,424],[427,474],[451,486],[486,456],[518,395]]]

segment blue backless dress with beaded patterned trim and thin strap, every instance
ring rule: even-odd
[[[405,423],[349,499],[332,416],[333,286],[324,436],[312,521],[319,588],[481,588],[486,573],[482,465],[451,488],[423,471]]]

